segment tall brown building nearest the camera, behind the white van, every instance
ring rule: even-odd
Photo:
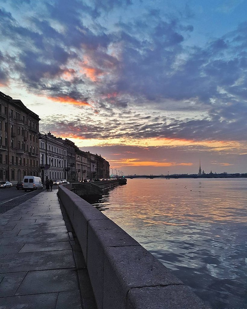
[[[40,176],[39,121],[21,100],[0,92],[0,180]]]

